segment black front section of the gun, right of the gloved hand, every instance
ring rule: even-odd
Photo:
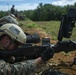
[[[76,43],[73,41],[60,41],[56,45],[52,46],[52,48],[55,50],[55,53],[64,51],[69,52],[76,50]]]

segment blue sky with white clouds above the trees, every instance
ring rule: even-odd
[[[73,5],[76,0],[0,0],[0,11],[8,11],[15,5],[15,9],[20,10],[34,10],[37,8],[39,3],[53,4],[53,5]]]

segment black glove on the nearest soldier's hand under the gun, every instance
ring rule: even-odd
[[[50,58],[52,58],[54,55],[54,49],[52,49],[51,47],[47,48],[47,50],[45,50],[42,54],[41,54],[41,58],[43,61],[48,61]]]

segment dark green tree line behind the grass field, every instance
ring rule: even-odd
[[[37,8],[34,10],[24,10],[18,12],[33,21],[51,21],[61,20],[62,15],[66,14],[70,8],[76,9],[76,3],[74,3],[74,5],[66,6],[39,3]],[[7,12],[0,11],[0,17],[4,16],[5,13]]]

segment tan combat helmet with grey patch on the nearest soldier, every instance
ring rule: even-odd
[[[0,36],[3,34],[8,35],[11,39],[16,40],[20,43],[26,42],[26,34],[23,30],[16,24],[7,23],[0,27]]]

